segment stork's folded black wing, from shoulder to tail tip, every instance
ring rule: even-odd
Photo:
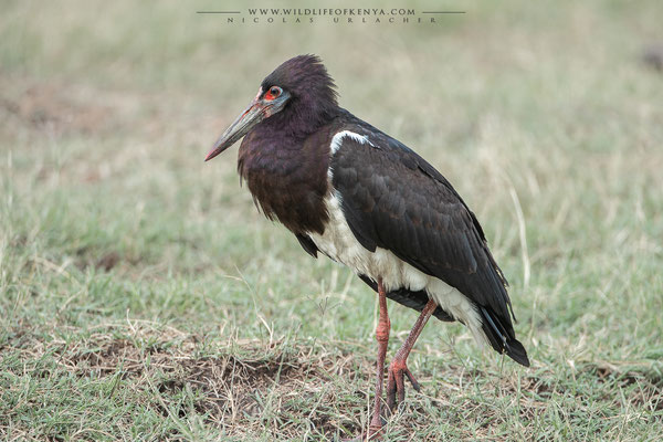
[[[515,338],[507,282],[476,217],[423,158],[368,126],[349,129],[332,159],[333,186],[352,233],[366,249],[390,250],[457,288],[477,306],[493,348],[528,365]]]

